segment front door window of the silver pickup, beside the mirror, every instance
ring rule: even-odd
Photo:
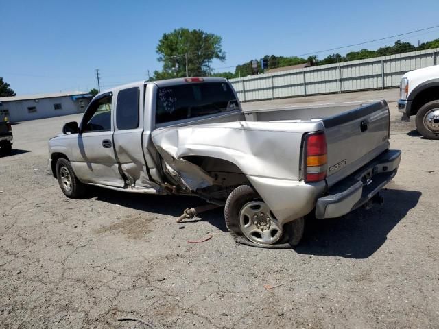
[[[93,101],[82,119],[82,132],[111,130],[111,99],[108,95]]]

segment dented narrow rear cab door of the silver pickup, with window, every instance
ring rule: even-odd
[[[143,88],[117,91],[114,142],[120,169],[129,186],[152,187],[143,157]]]

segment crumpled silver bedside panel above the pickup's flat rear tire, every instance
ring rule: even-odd
[[[200,167],[185,161],[186,156],[206,156],[232,162],[250,182],[254,182],[254,188],[274,215],[285,221],[294,215],[292,212],[305,215],[302,212],[309,210],[309,204],[312,204],[313,200],[305,200],[302,196],[300,204],[292,205],[304,187],[300,181],[302,136],[318,128],[316,123],[234,121],[159,128],[152,132],[152,141],[167,166],[174,169],[185,181],[185,186],[193,191],[209,186],[212,181]],[[261,179],[264,184],[260,184]],[[274,191],[278,193],[273,195]]]

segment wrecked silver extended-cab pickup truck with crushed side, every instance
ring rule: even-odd
[[[296,245],[303,217],[340,217],[379,201],[401,151],[389,149],[385,101],[243,112],[218,77],[137,82],[89,104],[49,141],[67,197],[87,184],[195,195],[224,206],[237,241]]]

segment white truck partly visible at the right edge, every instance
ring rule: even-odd
[[[399,112],[403,120],[416,115],[416,128],[425,138],[439,139],[439,65],[405,73],[401,77]]]

